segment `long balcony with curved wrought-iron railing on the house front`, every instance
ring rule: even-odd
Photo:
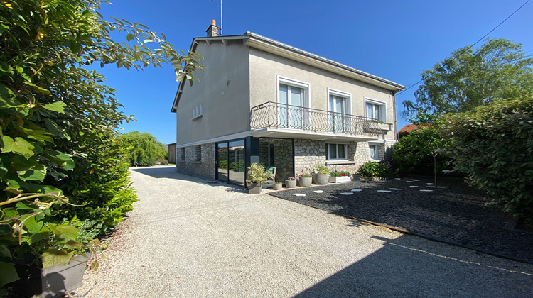
[[[276,137],[314,140],[376,140],[390,130],[389,124],[362,116],[271,101],[252,108],[250,126],[255,136],[275,134]]]

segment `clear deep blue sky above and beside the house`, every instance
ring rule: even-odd
[[[265,35],[409,87],[422,71],[475,43],[525,1],[223,0],[222,29],[224,35]],[[194,37],[205,36],[212,19],[220,25],[220,0],[115,0],[102,4],[101,12],[163,32],[182,50],[190,48]],[[530,55],[532,32],[533,1],[488,38],[522,43]],[[124,113],[139,121],[124,124],[124,132],[148,132],[162,143],[176,142],[176,114],[170,110],[178,82],[171,67],[97,70],[117,89]],[[398,129],[409,123],[399,114],[415,91],[397,96]]]

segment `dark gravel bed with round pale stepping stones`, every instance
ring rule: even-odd
[[[485,206],[490,198],[461,180],[443,180],[444,188],[427,187],[430,181],[349,182],[271,194],[333,214],[403,228],[448,243],[533,263],[533,233],[509,228],[510,217],[497,206]],[[377,192],[389,188],[401,190]],[[348,196],[340,194],[351,189],[362,191]],[[421,192],[421,189],[432,192]],[[306,194],[306,197],[296,197],[294,193]]]

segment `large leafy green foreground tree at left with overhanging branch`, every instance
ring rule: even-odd
[[[170,63],[178,80],[201,68],[198,55],[174,50],[163,34],[105,21],[99,4],[0,3],[0,287],[18,278],[14,260],[66,263],[87,245],[87,231],[112,230],[136,200],[118,137],[131,118],[104,77],[83,67]]]

